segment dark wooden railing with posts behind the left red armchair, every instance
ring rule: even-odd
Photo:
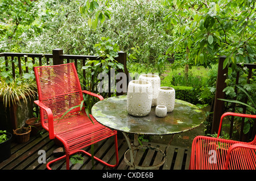
[[[72,55],[72,54],[63,54],[63,49],[53,49],[52,54],[37,54],[37,53],[0,53],[0,57],[5,57],[5,71],[9,71],[11,68],[11,74],[15,78],[15,75],[18,73],[22,75],[23,73],[29,73],[29,68],[26,65],[28,58],[31,58],[32,64],[35,63],[39,66],[42,65],[59,65],[69,62],[74,62],[77,70],[82,70],[82,66],[85,66],[86,61],[88,60],[100,60],[101,57],[97,56],[83,56],[83,55]],[[18,60],[18,61],[17,61]],[[22,61],[23,60],[23,61]],[[123,72],[128,77],[128,71],[126,68],[126,52],[118,52],[118,57],[115,60],[124,66]],[[17,69],[18,68],[18,69]],[[0,70],[1,71],[1,70]],[[118,70],[119,72],[122,70]],[[82,75],[86,76],[86,70],[82,70]],[[110,78],[110,76],[109,76]],[[126,82],[126,80],[120,80]],[[109,81],[110,83],[110,81]],[[126,82],[127,83],[127,82]],[[125,85],[125,84],[123,84]],[[109,86],[110,87],[110,86]],[[109,92],[109,96],[112,92]],[[123,94],[123,92],[117,92],[117,94]]]

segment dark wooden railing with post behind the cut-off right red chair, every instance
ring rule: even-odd
[[[226,56],[221,56],[219,58],[219,62],[218,62],[218,76],[217,76],[216,94],[215,94],[215,100],[214,100],[214,111],[213,111],[211,134],[218,132],[221,115],[225,112],[225,104],[224,104],[225,102],[222,100],[219,100],[219,99],[225,99],[225,92],[223,92],[223,90],[226,87],[225,80],[228,76],[228,67],[223,69],[223,63],[225,61],[225,58],[226,58]],[[241,65],[237,64],[237,66],[241,66]],[[247,83],[249,84],[250,78],[253,75],[253,69],[254,69],[254,71],[256,69],[256,64],[244,64],[243,67],[247,67],[247,69],[249,69],[248,76],[247,76]],[[237,71],[236,85],[238,85],[239,78],[240,78],[240,72]],[[237,87],[235,87],[235,92],[237,93]],[[245,98],[245,100],[243,102],[247,103],[247,98]],[[236,106],[236,104],[233,104],[232,112],[235,111],[235,106]],[[246,106],[243,106],[242,113],[246,113]],[[254,121],[254,127],[253,127],[252,131],[250,132],[250,136],[249,136],[248,133],[246,135],[243,133],[244,120],[245,119],[242,119],[242,123],[241,123],[240,141],[249,141],[250,138],[253,138],[255,136],[256,121]],[[232,137],[233,123],[234,123],[234,117],[232,117],[230,120],[230,131],[229,131],[230,137]]]

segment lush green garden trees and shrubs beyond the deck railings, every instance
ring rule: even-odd
[[[123,50],[129,72],[159,73],[162,86],[177,90],[176,98],[202,108],[212,106],[218,57],[225,55],[224,67],[230,66],[226,99],[242,101],[249,95],[247,113],[255,114],[255,70],[247,83],[246,68],[236,66],[255,64],[255,9],[253,0],[2,0],[0,52],[47,54],[61,48],[65,54],[106,56],[101,71],[108,72],[122,68],[113,57]],[[84,69],[95,73],[98,63],[88,61]],[[22,60],[22,66],[36,64]],[[34,81],[32,69],[17,73],[15,79],[7,69],[1,58],[2,87]],[[238,86],[242,89],[236,93],[237,71],[241,71]],[[236,111],[241,110],[237,104]],[[235,123],[238,131],[239,121]],[[246,120],[243,132],[251,125]]]

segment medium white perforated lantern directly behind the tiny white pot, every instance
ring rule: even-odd
[[[159,87],[157,105],[164,105],[167,107],[167,112],[174,110],[175,104],[175,90],[172,87]]]

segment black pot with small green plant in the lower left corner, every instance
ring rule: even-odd
[[[11,137],[11,133],[0,130],[0,162],[11,156]]]

